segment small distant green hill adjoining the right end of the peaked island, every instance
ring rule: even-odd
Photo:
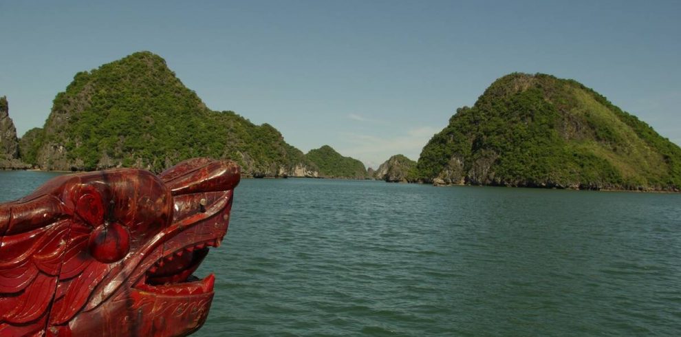
[[[319,174],[323,177],[364,179],[367,176],[367,170],[362,162],[351,157],[343,157],[328,145],[310,150],[305,157],[316,164]]]

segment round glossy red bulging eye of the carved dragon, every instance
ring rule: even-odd
[[[92,257],[102,263],[120,261],[130,250],[130,234],[125,226],[114,222],[97,226],[88,241]]]

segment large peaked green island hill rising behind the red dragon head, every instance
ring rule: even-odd
[[[76,74],[54,99],[43,138],[25,147],[37,148],[27,154],[47,169],[136,166],[158,172],[197,156],[235,160],[255,176],[314,169],[269,124],[210,111],[150,52]]]

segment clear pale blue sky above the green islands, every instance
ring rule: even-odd
[[[496,78],[574,78],[681,144],[681,1],[5,1],[19,135],[74,74],[149,50],[210,109],[307,152],[413,160]]]

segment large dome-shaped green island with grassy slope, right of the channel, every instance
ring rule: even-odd
[[[671,190],[681,149],[574,80],[499,78],[424,147],[421,180]]]

